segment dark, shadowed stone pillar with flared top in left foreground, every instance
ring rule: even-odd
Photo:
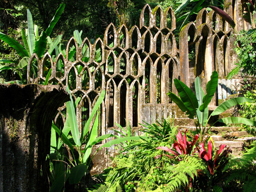
[[[51,124],[68,99],[59,86],[0,84],[0,191],[49,191]]]

